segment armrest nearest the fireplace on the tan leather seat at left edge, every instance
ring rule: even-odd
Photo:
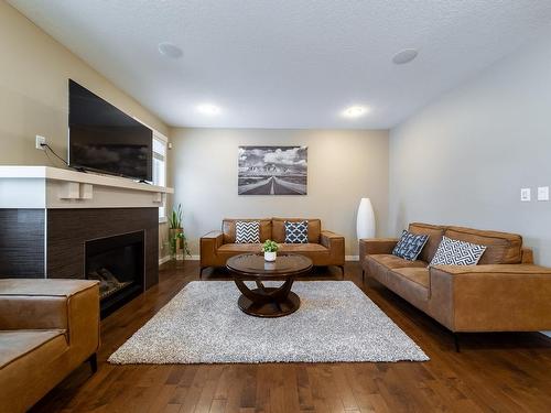
[[[0,329],[53,328],[64,329],[69,345],[80,348],[83,355],[97,350],[97,281],[0,280]]]

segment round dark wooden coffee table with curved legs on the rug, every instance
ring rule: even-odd
[[[294,313],[301,298],[291,291],[294,279],[312,269],[312,260],[298,254],[278,254],[273,262],[264,261],[262,254],[245,253],[228,259],[226,267],[241,292],[237,304],[249,315],[257,317],[281,317]],[[252,280],[251,290],[244,281]],[[284,281],[278,287],[264,286],[262,281]]]

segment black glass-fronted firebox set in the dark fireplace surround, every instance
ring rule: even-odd
[[[99,281],[101,317],[144,291],[144,231],[85,241],[85,276]]]

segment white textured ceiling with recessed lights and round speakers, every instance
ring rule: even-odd
[[[387,129],[551,35],[549,0],[9,2],[177,127]],[[160,42],[183,57],[163,57]],[[407,47],[418,58],[392,64]],[[343,118],[349,105],[371,112]]]

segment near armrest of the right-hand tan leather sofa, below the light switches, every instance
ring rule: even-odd
[[[453,332],[551,329],[551,269],[530,264],[430,269],[430,314]]]

